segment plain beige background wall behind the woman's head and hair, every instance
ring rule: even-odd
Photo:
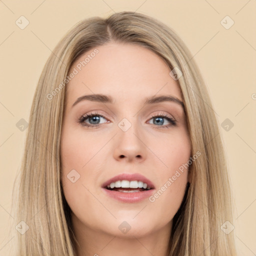
[[[28,121],[43,65],[76,22],[122,10],[156,17],[178,33],[201,69],[219,123],[233,122],[221,128],[236,205],[233,232],[239,255],[255,255],[255,0],[0,0],[0,255],[12,238],[7,221],[25,138],[16,123]],[[29,21],[24,29],[15,24],[21,15]],[[229,29],[220,23],[226,15],[234,21]]]

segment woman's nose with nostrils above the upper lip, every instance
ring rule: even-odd
[[[126,131],[119,129],[114,139],[113,156],[117,161],[141,162],[145,160],[147,154],[146,145],[143,141],[145,139],[139,135],[138,130],[133,125]]]

